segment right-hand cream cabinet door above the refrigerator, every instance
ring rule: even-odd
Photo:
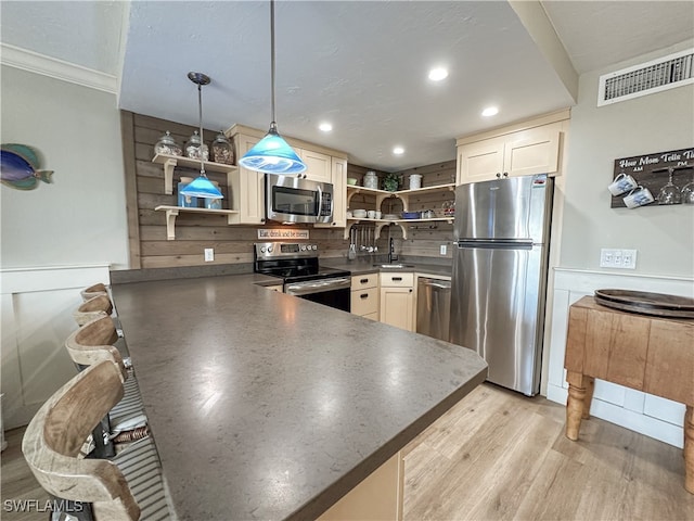
[[[555,125],[528,130],[504,148],[504,171],[510,176],[554,174],[558,169],[560,131]]]

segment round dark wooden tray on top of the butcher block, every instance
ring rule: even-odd
[[[694,298],[630,290],[595,290],[595,302],[622,312],[657,317],[694,318]]]

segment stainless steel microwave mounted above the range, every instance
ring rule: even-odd
[[[296,176],[265,175],[266,218],[281,223],[332,223],[333,186]]]

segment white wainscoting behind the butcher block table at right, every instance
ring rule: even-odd
[[[600,289],[651,291],[694,297],[694,279],[622,275],[580,269],[554,269],[554,298],[550,331],[547,397],[566,404],[564,369],[568,312],[571,304]],[[622,385],[595,380],[590,414],[646,436],[682,447],[684,405]]]

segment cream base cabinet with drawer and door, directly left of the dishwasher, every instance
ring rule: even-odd
[[[382,272],[378,279],[381,321],[414,331],[414,274]]]

